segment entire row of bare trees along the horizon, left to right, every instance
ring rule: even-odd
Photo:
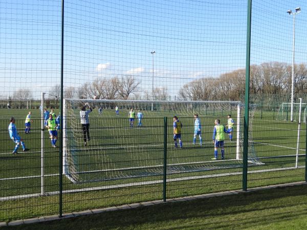
[[[294,94],[307,93],[307,66],[297,64],[294,68]],[[250,95],[254,98],[266,95],[268,98],[276,95],[290,95],[292,85],[292,66],[282,62],[265,62],[252,65],[250,68]],[[140,91],[140,81],[127,75],[113,78],[96,78],[85,82],[79,87],[65,87],[64,98],[78,99],[135,99],[135,100],[174,100],[174,95],[168,93],[167,87],[155,87],[153,90]],[[184,84],[178,91],[178,100],[208,101],[230,100],[243,101],[245,95],[245,69],[234,70],[217,78],[205,77]],[[30,89],[17,89],[12,100],[25,101],[32,98]],[[60,98],[60,85],[53,86],[47,100]]]

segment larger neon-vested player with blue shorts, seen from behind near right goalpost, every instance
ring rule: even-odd
[[[225,135],[224,133],[229,133],[224,125],[220,124],[220,120],[216,119],[213,128],[213,144],[214,144],[214,157],[212,158],[213,160],[217,159],[217,148],[221,148],[221,154],[222,154],[222,159],[224,159],[224,140],[225,140]]]

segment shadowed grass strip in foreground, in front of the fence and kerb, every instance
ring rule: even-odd
[[[307,218],[306,185],[168,202],[2,229],[237,229],[303,218]]]

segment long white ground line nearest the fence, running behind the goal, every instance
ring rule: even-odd
[[[248,174],[283,171],[283,170],[290,170],[290,169],[301,169],[301,168],[305,168],[305,166],[299,166],[297,168],[286,167],[286,168],[276,168],[276,169],[252,170],[252,171],[248,171]],[[214,177],[221,177],[221,176],[234,176],[234,175],[242,175],[242,172],[230,172],[230,173],[218,173],[218,174],[212,174],[212,175],[203,175],[203,176],[186,176],[186,177],[180,177],[180,178],[170,178],[170,179],[167,179],[167,182],[193,180],[193,179],[205,179],[205,178],[214,178]],[[98,187],[82,188],[82,189],[70,189],[70,190],[63,190],[62,193],[77,193],[77,192],[85,192],[85,191],[117,189],[117,188],[126,188],[126,187],[140,186],[140,185],[153,185],[153,184],[156,184],[156,183],[163,183],[163,180],[151,180],[151,181],[142,181],[142,182],[134,182],[134,183],[123,183],[123,184],[120,184],[120,185],[98,186]],[[45,195],[48,196],[48,195],[57,195],[57,194],[59,194],[59,191],[48,192]],[[40,193],[32,193],[32,194],[25,194],[25,195],[5,196],[5,197],[0,197],[0,201],[38,197],[40,195],[41,195]]]

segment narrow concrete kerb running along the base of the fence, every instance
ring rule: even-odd
[[[92,214],[98,214],[98,213],[103,213],[103,212],[116,211],[116,210],[135,209],[135,208],[139,208],[142,206],[150,206],[154,204],[205,199],[209,197],[235,195],[239,193],[247,193],[247,192],[254,192],[254,191],[259,191],[259,190],[282,188],[282,187],[297,186],[297,185],[307,185],[307,183],[305,181],[300,181],[300,182],[286,183],[286,184],[281,184],[281,185],[251,188],[251,189],[248,189],[248,191],[232,190],[232,191],[226,191],[226,192],[209,193],[209,194],[194,195],[194,196],[187,196],[187,197],[178,197],[178,198],[167,199],[166,202],[163,202],[163,200],[153,200],[153,201],[146,201],[146,202],[141,202],[141,203],[132,203],[132,204],[125,204],[125,205],[120,205],[120,206],[112,206],[112,207],[103,208],[103,209],[93,209],[93,210],[85,210],[85,211],[80,211],[80,212],[65,213],[63,214],[61,218],[58,215],[52,215],[52,216],[30,218],[30,219],[25,219],[25,220],[13,220],[8,223],[0,222],[0,227],[15,226],[15,225],[20,225],[20,224],[29,224],[29,223],[35,223],[35,222],[45,222],[45,221],[59,220],[59,219],[64,219],[64,218],[71,218],[71,217],[76,217],[76,216],[84,216],[84,215],[92,215]]]

